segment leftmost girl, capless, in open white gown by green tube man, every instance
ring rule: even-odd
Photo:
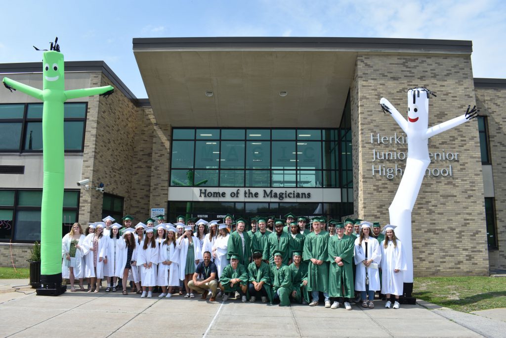
[[[85,275],[83,243],[86,236],[82,234],[81,224],[74,223],[70,232],[62,239],[62,277],[70,280],[70,291],[74,292],[75,278],[79,280],[81,291],[85,291],[82,278]]]

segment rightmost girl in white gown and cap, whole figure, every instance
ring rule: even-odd
[[[390,295],[395,296],[394,309],[399,309],[399,296],[404,286],[404,271],[407,270],[406,257],[402,249],[402,243],[395,236],[396,226],[387,224],[383,229],[385,240],[381,247],[381,270],[382,287],[381,292],[387,295],[386,308],[390,309],[392,302]]]

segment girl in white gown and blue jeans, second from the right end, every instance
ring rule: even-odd
[[[370,237],[372,223],[360,223],[360,235],[355,240],[355,290],[360,291],[362,307],[374,308],[374,291],[378,291],[381,249],[374,237]],[[367,303],[367,297],[369,302]]]

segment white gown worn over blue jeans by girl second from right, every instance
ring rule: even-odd
[[[355,264],[357,265],[355,274],[355,290],[365,291],[365,276],[366,268],[362,261],[365,259],[365,241],[362,241],[362,245],[358,242],[360,238],[355,240]],[[367,259],[372,259],[373,263],[379,264],[381,262],[381,249],[377,239],[369,237],[367,242]],[[369,291],[378,291],[381,287],[379,286],[379,269],[367,268],[367,275],[369,276]]]

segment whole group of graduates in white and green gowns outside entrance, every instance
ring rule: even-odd
[[[309,219],[288,213],[284,219],[254,217],[246,220],[227,214],[219,220],[178,216],[166,223],[164,215],[132,226],[126,215],[122,225],[110,216],[88,223],[82,233],[74,223],[62,240],[63,277],[75,279],[80,290],[99,292],[104,277],[106,292],[119,286],[122,293],[141,297],[216,301],[223,297],[289,306],[291,302],[317,306],[320,293],[326,308],[362,302],[374,308],[374,292],[387,298],[385,307],[399,308],[406,261],[395,226],[347,218]],[[88,289],[83,280],[88,279]],[[118,285],[116,285],[118,282]],[[390,299],[391,295],[395,299]],[[392,302],[393,301],[393,302]]]

